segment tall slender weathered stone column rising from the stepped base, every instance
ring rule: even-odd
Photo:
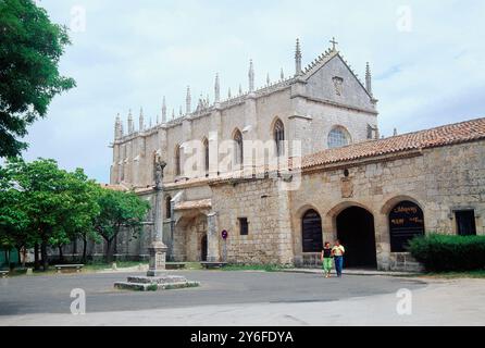
[[[160,276],[165,271],[166,261],[166,246],[163,244],[163,170],[166,163],[160,160],[160,157],[156,159],[156,203],[154,203],[154,233],[153,241],[150,248],[150,266],[147,272],[147,276]]]

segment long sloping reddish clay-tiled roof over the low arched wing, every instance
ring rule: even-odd
[[[480,139],[485,139],[485,119],[477,119],[432,129],[403,134],[386,139],[371,140],[344,148],[316,152],[304,157],[301,166],[307,169]]]

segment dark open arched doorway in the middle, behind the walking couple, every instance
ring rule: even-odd
[[[337,216],[337,236],[346,248],[346,268],[376,269],[374,216],[365,209],[351,207]]]

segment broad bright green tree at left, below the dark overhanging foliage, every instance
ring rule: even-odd
[[[69,173],[53,160],[26,163],[16,159],[3,172],[20,192],[16,210],[27,216],[16,225],[26,232],[29,245],[40,245],[43,270],[48,269],[49,246],[58,247],[62,256],[62,246],[94,232],[98,190],[82,170]]]

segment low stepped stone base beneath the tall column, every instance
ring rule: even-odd
[[[170,290],[198,286],[200,286],[199,282],[187,281],[186,277],[179,275],[130,276],[127,282],[114,283],[114,287],[117,289],[134,291]]]

